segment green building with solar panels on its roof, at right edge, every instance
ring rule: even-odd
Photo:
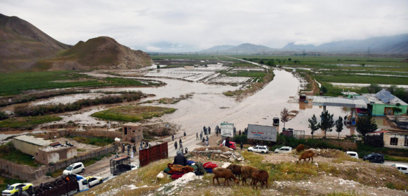
[[[407,113],[408,104],[385,89],[376,94],[363,94],[363,97],[367,99],[368,110],[371,111],[371,115],[373,116],[401,115]],[[400,106],[397,106],[397,103],[400,103]],[[402,111],[394,113],[394,107],[399,107]]]

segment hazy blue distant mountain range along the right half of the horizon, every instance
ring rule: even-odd
[[[238,46],[221,45],[214,46],[200,52],[218,54],[263,54],[282,53],[284,51],[300,52],[322,52],[322,53],[380,53],[380,54],[407,54],[408,34],[395,36],[373,37],[364,40],[345,40],[324,43],[318,46],[311,44],[297,45],[288,43],[281,49],[269,48],[263,45],[241,44]]]

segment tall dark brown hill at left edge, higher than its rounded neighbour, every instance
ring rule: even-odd
[[[29,22],[0,14],[0,72],[29,68],[39,59],[68,49]]]

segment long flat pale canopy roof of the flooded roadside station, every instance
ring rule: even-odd
[[[339,98],[316,96],[313,105],[326,105],[338,107],[354,107],[367,109],[367,102],[363,98]]]

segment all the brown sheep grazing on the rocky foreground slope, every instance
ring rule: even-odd
[[[305,150],[305,146],[303,144],[300,144],[297,148],[297,152],[302,152]],[[298,163],[303,159],[304,163],[307,160],[307,163],[309,163],[311,159],[311,163],[313,163],[313,156],[314,152],[312,150],[306,150],[302,155],[299,157]],[[261,170],[252,166],[241,166],[241,165],[235,165],[231,164],[227,168],[222,168],[222,167],[217,167],[212,170],[212,173],[214,176],[212,177],[212,184],[215,184],[215,179],[219,184],[218,178],[224,178],[224,186],[229,186],[228,181],[233,180],[237,185],[239,184],[239,178],[242,176],[242,184],[246,185],[246,179],[251,178],[251,186],[254,186],[256,189],[258,189],[257,184],[258,182],[261,183],[261,189],[263,186],[266,186],[268,189],[268,179],[269,179],[269,174],[265,170]],[[238,178],[236,178],[236,176]]]

